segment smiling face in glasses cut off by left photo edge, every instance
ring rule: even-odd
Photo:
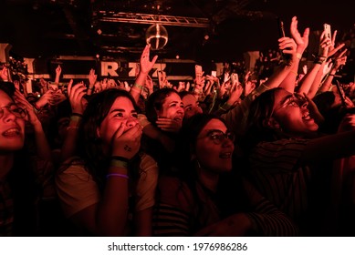
[[[14,101],[0,90],[0,153],[24,147],[25,119],[16,117],[17,109]]]

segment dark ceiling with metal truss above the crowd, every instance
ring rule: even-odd
[[[277,47],[277,17],[287,26],[298,15],[311,30],[354,24],[352,1],[338,0],[3,0],[0,42],[19,56],[137,58],[148,17],[170,17],[168,44],[157,54],[185,59],[228,60],[245,51]],[[141,17],[141,15],[146,17]],[[193,17],[197,21],[173,20]],[[134,22],[134,23],[133,23]],[[202,27],[205,26],[205,27]],[[98,32],[99,31],[99,32]],[[208,35],[208,40],[204,36]]]

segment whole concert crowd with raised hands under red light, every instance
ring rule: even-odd
[[[350,47],[290,23],[263,72],[98,77],[42,96],[0,70],[0,236],[352,236],[355,86]],[[348,51],[348,52],[347,52]],[[270,52],[270,57],[274,53]]]

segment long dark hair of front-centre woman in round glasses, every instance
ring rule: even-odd
[[[218,119],[225,125],[223,118],[212,114],[196,114],[187,119],[181,129],[181,139],[176,145],[177,153],[179,154],[178,158],[180,160],[179,178],[182,179],[192,191],[197,211],[201,211],[204,204],[196,190],[196,182],[198,181],[196,171],[197,162],[192,159],[192,154],[194,153],[198,135],[212,119]],[[234,166],[234,168],[231,173],[220,175],[216,200],[217,206],[221,210],[221,217],[249,209],[240,175],[241,169],[237,169],[236,166]],[[231,198],[233,198],[233,201],[231,201]]]

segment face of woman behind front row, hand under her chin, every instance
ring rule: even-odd
[[[162,109],[158,111],[158,117],[167,117],[183,123],[183,101],[176,93],[171,93],[162,104]]]

